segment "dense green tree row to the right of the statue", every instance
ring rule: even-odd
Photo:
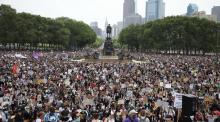
[[[166,54],[205,54],[218,51],[220,24],[197,17],[172,16],[130,25],[119,43],[129,50]]]

